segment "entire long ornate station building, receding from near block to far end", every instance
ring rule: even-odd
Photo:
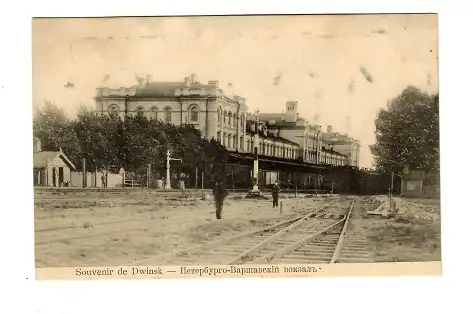
[[[153,82],[148,75],[132,87],[97,88],[95,97],[99,114],[191,124],[229,151],[254,152],[258,132],[260,155],[309,164],[358,165],[359,144],[343,144],[335,133],[323,133],[320,126],[299,117],[297,101],[287,101],[285,109],[284,113],[259,113],[257,118],[248,112],[244,97],[229,97],[218,81],[203,84],[195,74],[181,82]]]

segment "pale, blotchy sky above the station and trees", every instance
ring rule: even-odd
[[[360,166],[371,167],[377,112],[407,85],[438,91],[437,51],[436,15],[34,20],[33,101],[73,116],[100,85],[195,73],[246,97],[250,111],[282,112],[297,100],[324,131],[360,140]]]

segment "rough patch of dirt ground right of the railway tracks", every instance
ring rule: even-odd
[[[440,200],[403,201],[407,206],[395,217],[364,215],[373,262],[440,261]]]

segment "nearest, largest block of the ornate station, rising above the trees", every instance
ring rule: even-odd
[[[140,115],[175,125],[192,124],[205,138],[237,150],[245,138],[246,99],[224,95],[218,81],[203,84],[192,74],[182,82],[153,82],[150,75],[126,88],[97,88],[97,113]]]

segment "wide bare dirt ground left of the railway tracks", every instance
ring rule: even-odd
[[[211,200],[157,197],[148,193],[90,193],[35,197],[37,267],[118,266],[181,248],[260,229],[325,203],[228,199],[223,219]]]

